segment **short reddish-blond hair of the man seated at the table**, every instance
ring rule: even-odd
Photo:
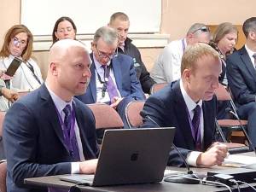
[[[189,45],[185,50],[182,62],[181,62],[181,74],[185,69],[195,70],[196,62],[201,59],[201,57],[210,55],[213,59],[219,60],[219,54],[210,45],[198,43],[194,45]]]

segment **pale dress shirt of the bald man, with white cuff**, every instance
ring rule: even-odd
[[[55,107],[57,108],[58,112],[61,114],[61,119],[64,122],[65,113],[63,112],[63,109],[69,104],[71,108],[73,108],[72,102],[73,99],[70,102],[65,102],[61,99],[60,96],[56,96],[55,93],[49,89],[47,84],[45,84],[47,90],[49,90],[49,95],[51,96],[53,102],[55,103]],[[74,125],[74,131],[75,136],[77,139],[78,147],[79,147],[79,157],[81,161],[84,161],[84,153],[83,153],[83,146],[81,142],[80,132],[79,132],[79,125],[77,123],[77,119],[75,119],[75,125]],[[71,163],[71,173],[79,173],[79,162],[72,162]]]

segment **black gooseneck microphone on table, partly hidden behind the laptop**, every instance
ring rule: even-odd
[[[157,125],[158,127],[161,127],[154,119],[152,119],[144,111],[141,111],[140,115],[144,119],[149,119],[155,125]],[[180,153],[180,151],[178,150],[178,148],[176,147],[176,145],[174,143],[172,143],[172,147],[175,148],[175,150],[177,151],[178,156],[183,160],[183,163],[187,168],[187,173],[183,174],[183,175],[173,175],[173,176],[165,177],[164,181],[171,182],[171,183],[199,184],[200,183],[199,177],[197,177],[195,175],[195,173],[192,170],[190,170],[189,164],[188,164],[187,160],[185,159],[185,157],[183,156],[183,154]]]

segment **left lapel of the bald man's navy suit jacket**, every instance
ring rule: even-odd
[[[41,89],[40,90],[41,99],[43,100],[43,106],[45,109],[44,111],[45,111],[45,114],[47,115],[47,119],[49,120],[50,124],[52,125],[52,128],[55,131],[55,134],[60,139],[63,147],[66,148],[67,152],[68,152],[68,148],[64,142],[63,132],[61,129],[61,124],[58,119],[57,109],[55,108],[55,104],[52,101],[51,96],[49,95],[49,91],[47,90],[45,84],[43,84],[40,89]],[[53,113],[49,113],[49,112],[55,112],[55,113],[53,114]]]

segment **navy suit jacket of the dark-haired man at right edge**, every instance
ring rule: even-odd
[[[227,78],[237,104],[255,102],[256,70],[245,47],[227,58]]]

